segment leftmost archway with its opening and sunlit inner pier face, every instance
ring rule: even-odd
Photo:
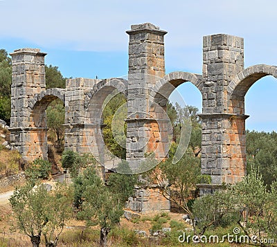
[[[31,105],[27,143],[28,153],[35,158],[48,160],[57,170],[64,150],[64,95],[48,89],[35,95]]]

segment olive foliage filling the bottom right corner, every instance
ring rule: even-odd
[[[260,232],[265,231],[270,237],[276,238],[276,182],[271,184],[268,191],[261,174],[252,167],[245,179],[234,186],[234,191],[238,206],[242,209],[240,221],[246,222],[243,226],[238,221],[244,232],[261,239]]]

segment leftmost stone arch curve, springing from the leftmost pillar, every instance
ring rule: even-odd
[[[33,100],[30,101],[28,107],[31,111],[30,122],[33,126],[30,127],[42,127],[46,128],[46,109],[48,104],[53,100],[59,98],[65,103],[64,97],[65,89],[47,89],[34,96]]]

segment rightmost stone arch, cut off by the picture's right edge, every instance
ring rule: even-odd
[[[228,86],[229,112],[244,114],[244,96],[255,82],[267,75],[277,78],[277,66],[257,64],[238,73]]]

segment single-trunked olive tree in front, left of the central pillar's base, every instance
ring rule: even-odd
[[[79,217],[85,219],[88,226],[100,226],[100,246],[107,246],[107,236],[112,228],[118,226],[123,205],[118,196],[105,186],[93,167],[79,174],[76,181],[78,185],[75,186],[75,192],[82,197]],[[85,187],[82,193],[78,190],[80,184]]]

